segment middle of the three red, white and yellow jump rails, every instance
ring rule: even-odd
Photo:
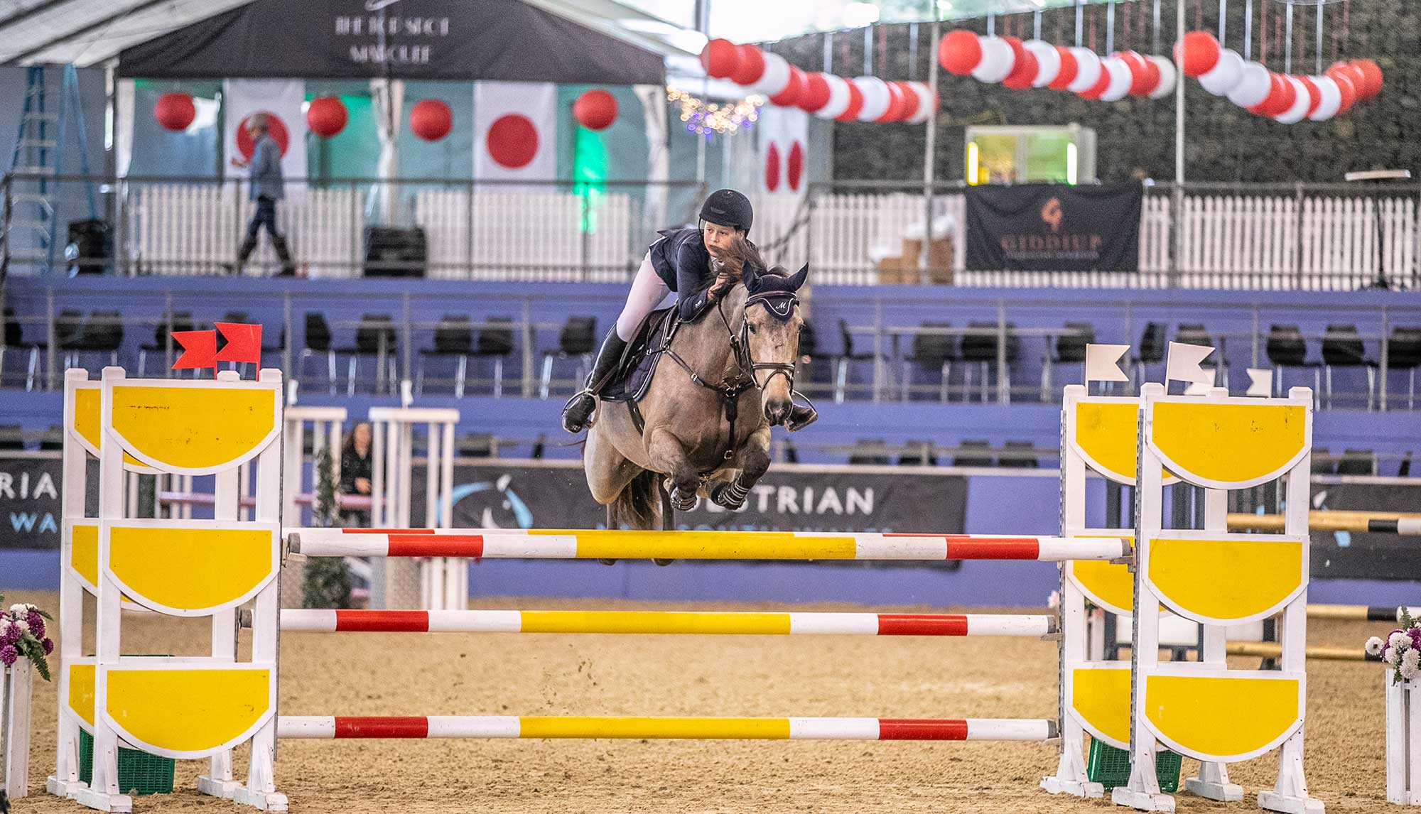
[[[1056,632],[1056,617],[701,611],[334,611],[288,608],[281,611],[281,629],[379,634],[1044,636]]]

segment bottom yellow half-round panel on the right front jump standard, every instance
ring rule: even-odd
[[[1302,725],[1300,673],[1228,672],[1235,675],[1147,672],[1150,729],[1181,754],[1229,763],[1269,751]]]

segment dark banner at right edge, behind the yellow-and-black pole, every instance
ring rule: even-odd
[[[1313,501],[1331,511],[1421,511],[1421,486],[1314,484]],[[1421,581],[1415,537],[1313,531],[1310,551],[1314,580]]]

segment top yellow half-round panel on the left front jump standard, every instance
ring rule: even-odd
[[[114,432],[141,460],[168,472],[203,474],[244,463],[279,429],[274,388],[115,382],[112,389]]]

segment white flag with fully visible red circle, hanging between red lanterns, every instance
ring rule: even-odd
[[[568,121],[571,121],[570,112]],[[473,84],[473,178],[475,180],[557,178],[557,85]]]

